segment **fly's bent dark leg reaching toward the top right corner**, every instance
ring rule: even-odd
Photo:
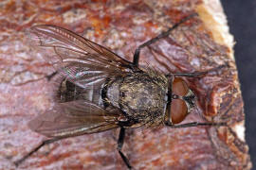
[[[133,64],[135,66],[138,66],[138,59],[139,59],[139,52],[140,50],[145,47],[145,46],[149,46],[150,44],[157,42],[159,39],[167,37],[170,32],[172,30],[174,30],[177,26],[180,26],[181,24],[185,23],[186,21],[190,20],[192,17],[197,16],[197,13],[193,13],[192,15],[189,15],[188,17],[183,18],[182,20],[180,20],[178,23],[174,24],[174,26],[170,27],[167,31],[162,32],[161,34],[159,34],[158,36],[156,36],[155,38],[142,43],[141,45],[139,45],[135,51],[134,54],[134,60],[133,60]]]

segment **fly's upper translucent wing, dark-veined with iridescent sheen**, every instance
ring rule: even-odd
[[[59,72],[76,85],[99,86],[106,77],[131,72],[132,62],[121,59],[107,48],[84,39],[82,36],[59,26],[33,26],[31,35],[42,47],[53,53],[44,56]]]

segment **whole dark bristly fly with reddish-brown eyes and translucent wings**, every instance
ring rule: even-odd
[[[126,128],[159,124],[175,128],[224,126],[224,123],[210,122],[179,124],[195,106],[195,94],[181,76],[202,76],[223,66],[206,72],[168,75],[138,67],[139,52],[143,47],[168,36],[174,28],[195,15],[185,17],[166,32],[139,45],[132,62],[63,27],[31,27],[40,46],[52,48],[59,57],[54,61],[46,58],[56,68],[55,74],[63,75],[63,79],[58,90],[60,102],[28,124],[49,139],[15,164],[19,165],[45,144],[120,127],[119,155],[132,169],[121,151]]]

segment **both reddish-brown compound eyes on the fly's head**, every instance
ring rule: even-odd
[[[186,82],[180,78],[175,77],[173,82],[173,94],[179,96],[184,96],[189,93],[189,87]],[[184,100],[182,99],[173,99],[171,102],[171,119],[173,124],[178,124],[182,122],[188,115],[188,108]]]

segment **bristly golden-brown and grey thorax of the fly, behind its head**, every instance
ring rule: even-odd
[[[164,111],[166,86],[157,76],[137,73],[123,78],[119,87],[119,107],[137,122],[159,117]]]

